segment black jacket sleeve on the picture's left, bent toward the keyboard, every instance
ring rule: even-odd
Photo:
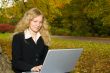
[[[18,71],[30,71],[33,67],[22,60],[22,42],[18,35],[13,36],[12,41],[12,68]]]

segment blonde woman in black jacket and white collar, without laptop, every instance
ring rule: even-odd
[[[39,72],[48,51],[50,36],[40,10],[27,11],[16,26],[12,41],[12,69],[15,73]]]

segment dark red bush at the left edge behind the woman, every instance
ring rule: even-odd
[[[0,32],[13,32],[15,29],[15,26],[9,25],[9,24],[0,24]]]

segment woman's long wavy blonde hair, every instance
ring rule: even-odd
[[[32,9],[28,10],[24,14],[23,18],[16,25],[15,33],[23,32],[25,29],[29,28],[30,21],[39,15],[43,15],[43,14],[37,8],[32,8]],[[43,26],[40,29],[40,34],[44,40],[44,43],[47,46],[50,46],[49,28],[48,28],[48,24],[47,24],[47,21],[46,21],[44,15],[43,15]]]

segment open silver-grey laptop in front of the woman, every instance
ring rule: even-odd
[[[22,73],[69,73],[79,59],[82,48],[49,50],[40,72]]]

